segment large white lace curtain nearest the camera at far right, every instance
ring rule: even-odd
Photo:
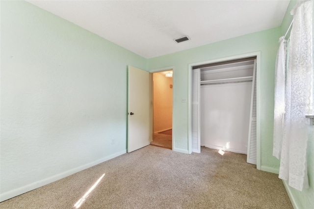
[[[313,1],[299,1],[291,11],[293,25],[285,92],[284,137],[279,178],[302,191],[307,188],[308,121],[313,108]]]

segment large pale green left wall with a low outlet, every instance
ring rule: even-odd
[[[126,153],[127,66],[147,59],[26,1],[0,6],[4,200]]]

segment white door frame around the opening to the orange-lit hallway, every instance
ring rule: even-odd
[[[153,141],[153,125],[154,125],[154,121],[153,121],[153,98],[154,98],[154,92],[153,92],[153,73],[159,73],[159,72],[163,72],[163,71],[169,71],[172,70],[172,129],[173,129],[173,125],[174,125],[174,96],[175,96],[175,66],[170,66],[170,67],[164,67],[164,68],[157,68],[157,69],[153,69],[150,70],[150,84],[149,84],[149,88],[150,88],[150,108],[149,108],[149,112],[150,112],[150,130],[149,130],[149,135],[150,135],[150,141]],[[174,142],[175,142],[175,134],[174,131],[172,131],[172,136],[171,136],[171,143],[172,143],[172,150],[174,150]]]

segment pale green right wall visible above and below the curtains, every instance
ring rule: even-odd
[[[293,16],[290,15],[290,11],[293,9],[297,1],[290,1],[286,15],[281,25],[281,35],[285,35]],[[314,14],[314,12],[313,12]],[[289,37],[289,32],[286,39]],[[314,127],[309,126],[309,129],[313,132]],[[313,209],[314,208],[314,135],[310,134],[307,148],[307,164],[308,164],[308,177],[310,187],[304,189],[302,192],[288,186],[288,182],[284,181],[288,195],[294,208],[298,209]]]

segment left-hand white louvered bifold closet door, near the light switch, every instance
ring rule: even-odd
[[[201,70],[192,70],[192,152],[201,153],[200,125]]]

